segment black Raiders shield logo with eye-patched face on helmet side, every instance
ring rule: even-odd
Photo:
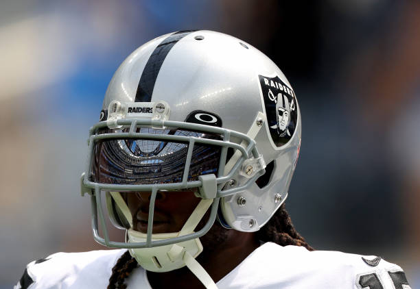
[[[258,76],[272,142],[281,147],[292,138],[297,125],[294,92],[278,76]]]

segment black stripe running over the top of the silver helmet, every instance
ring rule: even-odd
[[[196,30],[179,31],[171,34],[165,38],[153,51],[152,55],[146,63],[143,73],[141,73],[139,86],[137,86],[136,99],[135,101],[148,102],[152,99],[152,93],[154,83],[161,70],[163,61],[166,58],[167,53],[176,45],[180,39],[187,36],[191,32]]]

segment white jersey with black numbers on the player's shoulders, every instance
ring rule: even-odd
[[[103,289],[125,249],[56,253],[27,265],[14,289]],[[146,271],[136,268],[128,289],[151,289]],[[408,289],[404,271],[380,257],[303,247],[263,244],[216,284],[237,289]]]

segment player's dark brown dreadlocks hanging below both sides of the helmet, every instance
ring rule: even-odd
[[[296,229],[294,229],[292,219],[285,210],[284,203],[274,216],[270,218],[270,221],[257,231],[257,238],[263,242],[275,242],[281,246],[301,246],[309,251],[314,251]],[[127,285],[124,284],[124,281],[136,267],[137,261],[126,251],[113,267],[113,273],[109,278],[108,289],[126,289]]]

